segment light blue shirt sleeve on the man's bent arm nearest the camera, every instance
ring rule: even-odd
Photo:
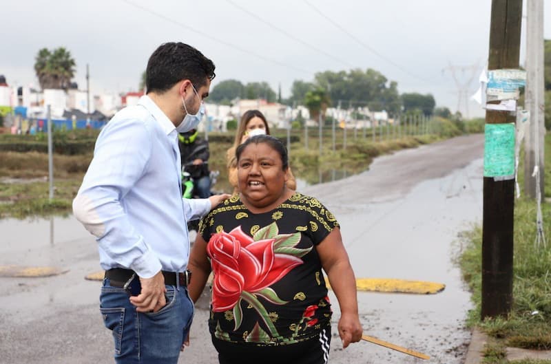
[[[147,168],[152,153],[149,131],[132,118],[112,120],[105,128],[73,200],[73,213],[112,261],[149,278],[161,269],[160,261],[122,202]]]

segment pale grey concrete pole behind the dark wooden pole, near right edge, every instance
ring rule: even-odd
[[[524,142],[524,192],[530,198],[544,195],[545,120],[543,85],[543,0],[528,0],[526,6],[526,99],[530,122]],[[532,177],[534,167],[539,173]],[[539,178],[539,196],[537,194]]]

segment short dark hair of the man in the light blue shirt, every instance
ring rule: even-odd
[[[189,80],[196,89],[214,76],[214,63],[191,45],[181,42],[161,44],[149,57],[145,70],[145,87],[149,92],[163,92],[182,80]]]

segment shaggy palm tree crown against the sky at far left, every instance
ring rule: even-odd
[[[71,53],[64,47],[53,51],[42,48],[34,58],[34,72],[42,89],[67,89],[74,76],[75,65]]]

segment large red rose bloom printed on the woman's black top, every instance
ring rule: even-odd
[[[243,291],[253,293],[267,288],[302,264],[299,257],[274,253],[273,242],[273,238],[255,242],[240,226],[229,233],[212,235],[207,254],[214,271],[214,312],[231,310]]]

